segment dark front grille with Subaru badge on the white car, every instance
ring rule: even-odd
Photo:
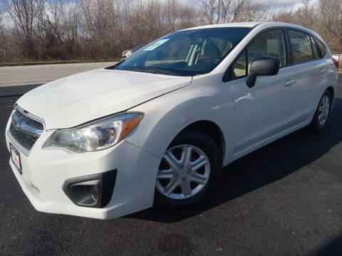
[[[28,151],[36,143],[37,139],[44,131],[43,124],[38,122],[28,115],[16,110],[12,114],[12,122],[9,127],[9,132],[21,146]]]

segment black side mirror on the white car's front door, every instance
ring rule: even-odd
[[[252,88],[257,81],[259,75],[276,75],[279,72],[280,60],[274,57],[262,57],[253,61],[249,74],[247,76],[246,84]]]

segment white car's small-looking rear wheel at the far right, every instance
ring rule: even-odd
[[[324,127],[326,127],[326,123],[330,117],[331,112],[331,102],[332,96],[329,90],[326,90],[321,100],[319,100],[318,107],[314,114],[314,118],[311,121],[310,128],[314,132],[320,132]]]

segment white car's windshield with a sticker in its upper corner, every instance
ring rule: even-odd
[[[166,75],[212,71],[252,28],[202,28],[171,33],[108,69]]]

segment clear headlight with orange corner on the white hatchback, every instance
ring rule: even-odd
[[[53,134],[51,145],[66,147],[79,153],[108,149],[125,138],[142,117],[142,113],[126,112],[73,129],[60,129]]]

